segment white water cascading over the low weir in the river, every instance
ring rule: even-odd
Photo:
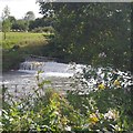
[[[70,70],[69,64],[58,63],[53,61],[39,62],[39,61],[25,61],[20,64],[19,72],[35,73],[42,71],[45,76],[62,76],[69,78],[73,75],[73,71]]]

